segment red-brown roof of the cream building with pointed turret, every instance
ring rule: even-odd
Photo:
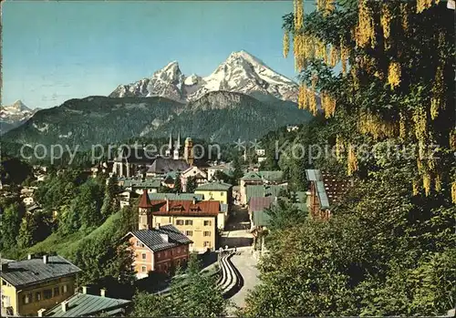
[[[167,210],[166,200],[152,200],[153,215],[181,216],[217,216],[220,212],[220,202],[216,200],[200,201],[193,204],[191,200],[169,200],[170,210]]]

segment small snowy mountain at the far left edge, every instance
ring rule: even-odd
[[[16,128],[31,118],[38,109],[27,108],[21,100],[9,106],[0,106],[0,134]]]

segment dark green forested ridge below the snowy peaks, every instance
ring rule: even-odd
[[[91,145],[120,143],[137,136],[166,138],[179,127],[181,136],[223,143],[259,138],[269,129],[308,118],[295,105],[279,100],[261,102],[229,92],[209,93],[189,105],[163,97],[86,97],[42,109],[3,138],[32,145],[69,145],[74,151],[77,146],[90,149]]]

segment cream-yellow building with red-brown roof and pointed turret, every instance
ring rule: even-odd
[[[224,228],[225,220],[219,201],[150,200],[143,192],[139,207],[140,230],[172,224],[192,240],[190,251],[217,248],[217,228]]]

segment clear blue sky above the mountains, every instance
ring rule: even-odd
[[[172,60],[207,76],[241,49],[295,79],[292,56],[282,56],[282,15],[292,9],[291,1],[6,1],[2,103],[48,108],[108,95]]]

